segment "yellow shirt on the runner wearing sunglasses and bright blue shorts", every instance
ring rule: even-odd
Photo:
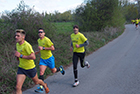
[[[51,47],[53,43],[48,37],[44,37],[42,40],[39,38],[38,40],[38,46],[41,47]],[[52,56],[51,50],[40,50],[41,58],[42,59],[48,59]]]

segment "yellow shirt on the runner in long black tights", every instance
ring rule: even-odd
[[[77,34],[72,33],[71,41],[73,45],[73,52],[78,52],[78,53],[85,52],[84,46],[76,48],[76,44],[80,45],[80,44],[83,44],[85,41],[87,41],[87,38],[82,33],[80,32],[78,32]]]

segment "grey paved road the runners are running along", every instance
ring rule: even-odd
[[[56,73],[45,82],[49,94],[140,94],[140,27],[126,25],[124,33],[86,57],[91,67],[78,66],[80,84],[72,87],[72,66],[66,75]],[[37,86],[23,94],[36,94]],[[45,93],[44,93],[45,94]]]

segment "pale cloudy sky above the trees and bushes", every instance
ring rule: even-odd
[[[0,0],[0,13],[12,11],[17,8],[21,0]],[[30,8],[34,6],[37,12],[54,13],[58,11],[63,13],[67,10],[73,10],[81,5],[84,0],[23,0]]]

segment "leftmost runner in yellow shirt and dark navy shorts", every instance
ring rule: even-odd
[[[23,29],[17,29],[15,34],[16,49],[15,56],[19,60],[19,67],[17,72],[17,84],[16,94],[22,94],[22,85],[26,79],[26,76],[31,78],[35,84],[40,84],[45,88],[46,93],[49,92],[47,84],[38,79],[37,70],[35,68],[34,59],[35,54],[32,46],[25,41],[25,31]]]

